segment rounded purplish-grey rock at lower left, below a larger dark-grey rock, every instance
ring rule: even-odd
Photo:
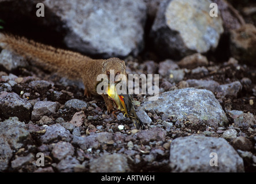
[[[51,154],[53,154],[54,159],[60,161],[65,159],[67,155],[72,156],[74,154],[74,150],[75,149],[71,143],[60,141],[54,145]]]

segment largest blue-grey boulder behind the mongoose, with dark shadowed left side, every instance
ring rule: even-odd
[[[44,0],[44,17],[37,17],[38,1],[1,0],[6,19],[24,17],[35,25],[63,34],[68,48],[101,57],[138,55],[143,49],[147,7],[143,0]],[[2,17],[1,17],[2,18]]]

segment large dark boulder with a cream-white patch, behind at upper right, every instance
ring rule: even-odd
[[[209,0],[162,1],[150,33],[157,51],[181,59],[215,49],[224,29],[221,16],[209,18],[210,3]]]

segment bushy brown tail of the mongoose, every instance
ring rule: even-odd
[[[48,70],[57,71],[72,79],[81,78],[84,64],[93,61],[90,57],[77,52],[54,48],[24,37],[4,33],[0,33],[0,47],[13,51],[25,59],[44,64]]]

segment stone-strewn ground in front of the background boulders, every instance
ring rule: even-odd
[[[1,171],[255,171],[255,68],[202,57],[204,66],[187,69],[194,57],[127,60],[128,72],[159,74],[158,101],[135,95],[140,131],[65,78],[33,66],[1,71]],[[218,167],[209,164],[212,152]]]

